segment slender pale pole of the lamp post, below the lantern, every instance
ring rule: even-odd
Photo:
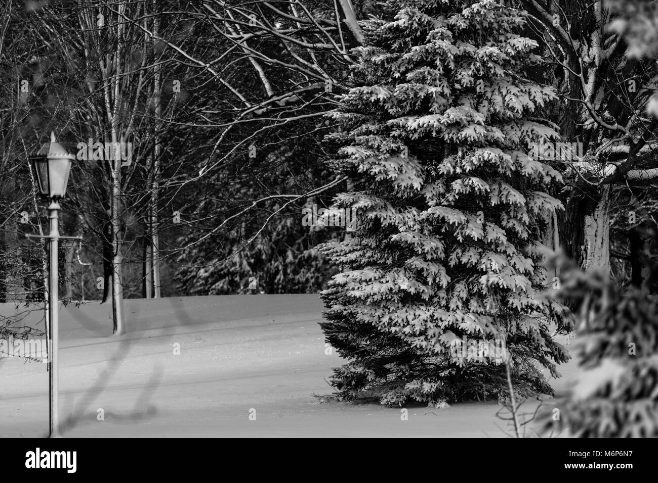
[[[50,437],[61,438],[59,432],[59,257],[57,242],[59,241],[59,204],[52,200],[48,211],[50,213],[50,287],[48,289],[49,326],[51,337],[51,353],[49,367],[49,396],[50,396]]]

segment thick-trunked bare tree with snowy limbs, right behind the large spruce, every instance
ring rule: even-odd
[[[611,200],[616,186],[658,179],[658,124],[647,103],[658,79],[651,58],[626,55],[602,1],[523,0],[542,43],[544,75],[559,90],[555,119],[582,156],[556,159],[570,186],[562,248],[586,269],[610,267]]]

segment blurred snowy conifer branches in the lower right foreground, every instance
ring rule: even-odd
[[[573,265],[561,278],[559,296],[579,308],[581,370],[567,398],[540,415],[545,434],[658,437],[658,296],[642,288],[623,293],[607,276]]]

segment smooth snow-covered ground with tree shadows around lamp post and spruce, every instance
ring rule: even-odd
[[[61,309],[64,436],[501,437],[508,430],[495,417],[499,407],[493,402],[445,409],[410,405],[408,421],[399,408],[318,402],[313,394],[332,392],[326,379],[342,362],[325,354],[317,295],[125,304],[128,334],[116,338],[110,336],[107,306]],[[1,313],[12,310],[0,304]],[[176,344],[180,355],[174,354]],[[47,434],[45,369],[0,359],[0,437]],[[558,394],[574,375],[574,364],[561,372],[565,378],[553,384]]]

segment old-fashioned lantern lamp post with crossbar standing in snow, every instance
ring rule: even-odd
[[[38,181],[39,193],[50,200],[48,206],[50,233],[47,236],[26,235],[30,238],[43,238],[49,241],[49,287],[48,287],[48,338],[51,341],[48,351],[49,370],[49,436],[61,438],[59,432],[59,365],[57,351],[59,350],[59,260],[57,245],[59,239],[81,239],[82,237],[61,237],[59,235],[59,200],[66,195],[66,185],[71,164],[75,156],[69,154],[64,147],[55,141],[55,133],[51,133],[50,142],[45,143],[30,162],[34,167]]]

